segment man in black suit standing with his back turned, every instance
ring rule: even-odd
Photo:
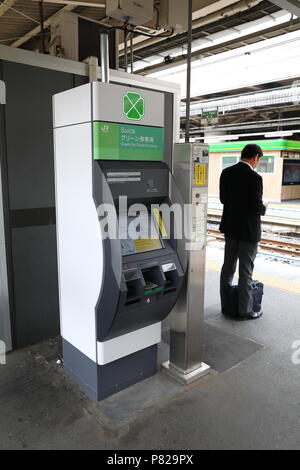
[[[260,216],[267,204],[263,204],[262,177],[257,168],[262,150],[258,145],[246,145],[241,160],[225,168],[220,177],[220,200],[223,207],[220,232],[225,234],[224,264],[221,270],[220,294],[222,311],[226,289],[232,285],[239,260],[239,317],[259,318],[262,311],[253,311],[252,273],[261,238]]]

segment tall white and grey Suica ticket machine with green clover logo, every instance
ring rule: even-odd
[[[100,82],[53,100],[63,363],[96,400],[156,373],[185,274],[174,220],[159,210],[177,202],[170,103]]]

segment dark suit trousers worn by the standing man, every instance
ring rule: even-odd
[[[226,288],[232,285],[237,261],[239,261],[239,315],[244,316],[252,312],[252,273],[257,253],[257,245],[257,243],[233,240],[225,235],[224,264],[220,278],[222,310],[224,307]]]

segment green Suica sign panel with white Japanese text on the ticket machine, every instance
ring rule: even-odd
[[[95,160],[162,161],[164,129],[114,122],[94,122],[93,155]]]

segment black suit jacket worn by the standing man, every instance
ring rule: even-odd
[[[262,193],[262,177],[249,165],[239,162],[225,168],[220,177],[220,200],[224,204],[220,231],[233,240],[257,243],[261,238],[260,216],[266,212]]]

